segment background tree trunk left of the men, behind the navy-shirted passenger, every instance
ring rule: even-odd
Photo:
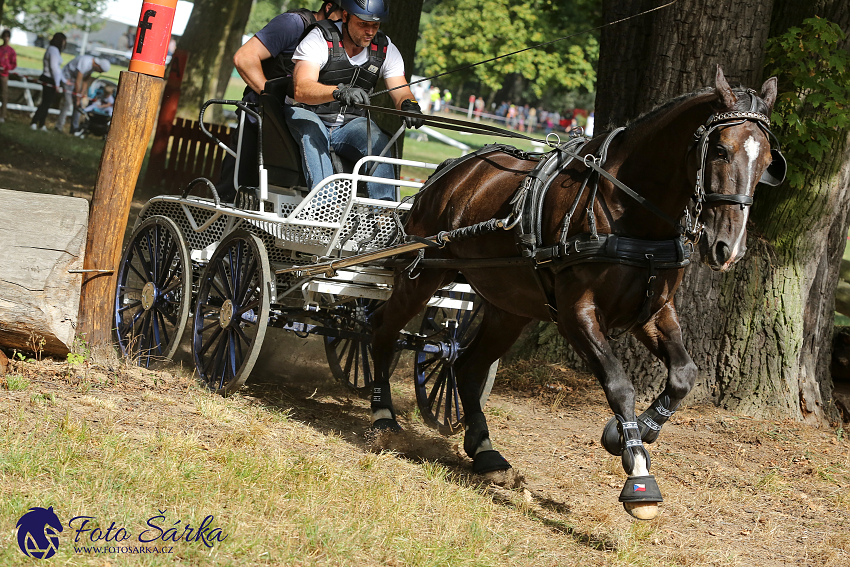
[[[242,46],[251,3],[251,0],[195,1],[186,31],[177,43],[178,49],[189,53],[177,110],[180,117],[197,120],[205,101],[224,98],[233,72],[233,54]],[[221,107],[214,106],[211,112],[212,120],[219,122]]]

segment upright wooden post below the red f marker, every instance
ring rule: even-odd
[[[78,333],[91,346],[113,342],[113,299],[121,245],[164,85],[165,81],[158,77],[129,71],[121,73],[118,83],[112,126],[92,193],[85,258],[86,269],[114,271],[84,276],[80,294]]]

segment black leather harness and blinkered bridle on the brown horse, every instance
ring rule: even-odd
[[[704,126],[700,126],[694,134],[694,144],[691,147],[698,149],[698,164],[697,164],[697,181],[694,188],[693,199],[695,201],[694,213],[691,214],[686,207],[683,212],[685,223],[682,224],[679,220],[673,219],[656,205],[646,200],[637,192],[626,186],[616,177],[603,169],[607,157],[608,147],[612,140],[621,133],[624,128],[618,128],[609,133],[602,142],[597,155],[585,154],[580,155],[581,149],[590,141],[588,138],[578,135],[563,144],[555,146],[554,150],[546,154],[526,153],[512,146],[504,144],[494,144],[484,146],[480,150],[458,158],[456,160],[448,160],[441,164],[440,168],[429,177],[428,181],[422,187],[425,190],[441,178],[449,170],[453,169],[460,163],[467,161],[476,156],[482,156],[493,152],[502,152],[512,155],[518,159],[533,160],[537,159],[538,164],[526,175],[523,182],[520,184],[517,192],[511,198],[513,210],[506,219],[491,219],[482,223],[478,223],[469,227],[462,227],[452,231],[441,232],[437,235],[437,246],[443,247],[449,242],[458,242],[468,238],[480,236],[486,232],[493,232],[500,229],[514,229],[517,246],[520,251],[520,257],[513,258],[488,258],[488,259],[426,259],[424,258],[424,250],[419,251],[418,257],[409,264],[406,272],[409,277],[417,277],[414,275],[420,268],[450,268],[450,267],[501,267],[517,265],[521,259],[525,260],[525,265],[531,265],[534,268],[535,279],[540,287],[543,296],[546,298],[546,306],[549,309],[552,321],[557,321],[557,308],[553,291],[545,284],[541,278],[540,271],[550,270],[553,274],[557,274],[566,268],[579,263],[587,262],[604,262],[625,264],[636,267],[646,267],[648,270],[646,281],[646,295],[643,305],[634,323],[624,329],[620,334],[634,328],[637,325],[645,324],[651,317],[651,304],[654,297],[653,284],[656,279],[657,270],[662,269],[679,269],[687,266],[690,263],[690,257],[694,250],[694,245],[699,241],[704,225],[699,222],[700,213],[703,204],[712,205],[715,203],[733,203],[739,204],[741,207],[752,204],[752,197],[748,194],[726,195],[719,193],[706,193],[704,186],[704,171],[706,165],[706,155],[709,136],[718,128],[735,126],[743,124],[746,121],[755,122],[766,135],[775,137],[769,129],[769,119],[764,114],[755,111],[756,94],[755,91],[747,90],[747,94],[751,97],[750,110],[746,112],[731,111],[721,114],[712,114],[706,121]],[[765,172],[762,183],[768,185],[778,185],[784,179],[785,160],[779,150],[771,150],[773,162]],[[565,215],[562,227],[561,237],[555,245],[544,245],[542,235],[543,225],[543,204],[546,194],[552,185],[554,179],[564,171],[574,160],[578,159],[581,163],[587,166],[587,175],[582,182],[576,198]],[[609,180],[614,186],[625,192],[632,199],[640,203],[648,211],[661,218],[674,228],[676,228],[678,236],[669,240],[642,240],[631,238],[628,236],[616,234],[599,234],[596,230],[596,222],[593,213],[593,205],[596,200],[599,178],[604,177]],[[579,202],[584,191],[590,186],[590,196],[586,208],[589,233],[581,233],[572,237],[568,237],[569,227],[572,219],[575,216]],[[403,234],[403,232],[401,233]],[[415,239],[415,237],[414,237]],[[433,244],[433,243],[431,243]],[[385,265],[398,265],[402,260],[385,261]],[[405,263],[407,261],[404,261]]]

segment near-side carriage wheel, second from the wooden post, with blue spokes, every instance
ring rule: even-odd
[[[259,238],[237,230],[219,243],[199,283],[192,328],[195,368],[210,390],[230,394],[251,373],[266,335],[271,285]]]

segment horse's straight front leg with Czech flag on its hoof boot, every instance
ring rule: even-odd
[[[649,474],[649,452],[643,446],[635,418],[634,385],[614,356],[599,319],[592,302],[579,301],[572,312],[559,312],[558,329],[599,380],[623,436],[621,457],[628,478],[620,492],[620,502],[635,518],[651,520],[658,515],[658,504],[663,498],[655,477]]]

